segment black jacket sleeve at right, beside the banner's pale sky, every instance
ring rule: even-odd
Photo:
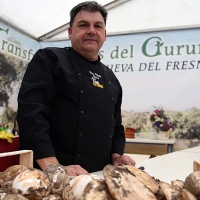
[[[116,79],[117,80],[117,79]],[[114,135],[112,140],[111,154],[118,153],[123,155],[124,147],[125,147],[125,134],[124,134],[124,126],[122,125],[122,117],[121,117],[121,103],[122,103],[122,87],[117,80],[119,95],[117,99],[117,103],[115,106],[115,127],[114,127]]]

